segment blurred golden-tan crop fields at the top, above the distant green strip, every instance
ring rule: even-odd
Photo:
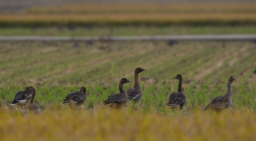
[[[255,3],[89,3],[0,14],[0,25],[256,23]]]

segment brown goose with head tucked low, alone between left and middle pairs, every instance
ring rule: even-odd
[[[62,104],[68,104],[71,107],[77,108],[77,106],[84,104],[85,100],[86,100],[86,88],[85,86],[82,86],[80,88],[80,91],[72,92],[68,94],[65,97],[65,99],[61,101],[64,101]]]

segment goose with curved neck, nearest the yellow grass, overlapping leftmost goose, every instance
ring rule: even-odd
[[[32,86],[27,87],[24,92],[28,92],[31,94],[28,104],[23,106],[22,109],[22,115],[25,117],[29,114],[29,112],[32,112],[35,115],[40,115],[40,108],[38,105],[34,104],[34,98],[35,98],[35,88]]]

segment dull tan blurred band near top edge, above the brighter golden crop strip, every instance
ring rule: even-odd
[[[254,12],[255,3],[84,3],[29,9],[27,13],[188,13]]]

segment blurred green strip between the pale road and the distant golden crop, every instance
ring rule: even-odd
[[[255,26],[67,26],[0,27],[0,36],[140,36],[255,34]]]

